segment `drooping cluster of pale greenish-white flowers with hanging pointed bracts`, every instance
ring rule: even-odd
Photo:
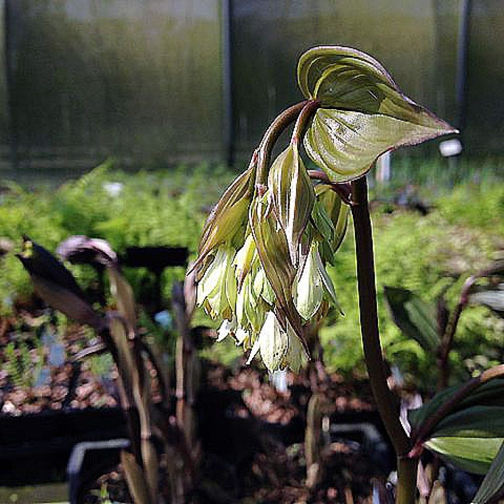
[[[257,161],[228,188],[203,231],[197,302],[270,371],[298,371],[308,357],[303,326],[327,313],[336,293],[325,264],[341,243],[347,207],[314,186],[295,145],[256,184]]]

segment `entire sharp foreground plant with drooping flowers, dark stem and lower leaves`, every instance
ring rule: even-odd
[[[416,501],[419,456],[427,447],[452,462],[464,461],[466,468],[489,470],[475,500],[489,502],[504,490],[504,448],[497,454],[504,429],[489,427],[503,386],[494,379],[504,375],[504,365],[440,392],[410,415],[410,431],[388,387],[376,312],[365,175],[386,151],[456,130],[405,96],[378,61],[355,49],[310,49],[299,59],[297,77],[305,101],[272,122],[247,170],[206,223],[194,266],[198,303],[223,320],[220,340],[231,335],[250,349],[248,361],[260,353],[270,371],[298,371],[309,359],[308,325],[322,320],[330,304],[338,305],[326,265],[334,261],[351,213],[364,357],[397,454],[395,501]],[[288,146],[270,163],[273,146],[292,122]],[[303,148],[317,170],[306,170]],[[483,396],[491,411],[481,419],[473,408],[481,412]],[[475,442],[482,438],[490,443],[476,455]],[[475,457],[478,463],[471,465]]]

